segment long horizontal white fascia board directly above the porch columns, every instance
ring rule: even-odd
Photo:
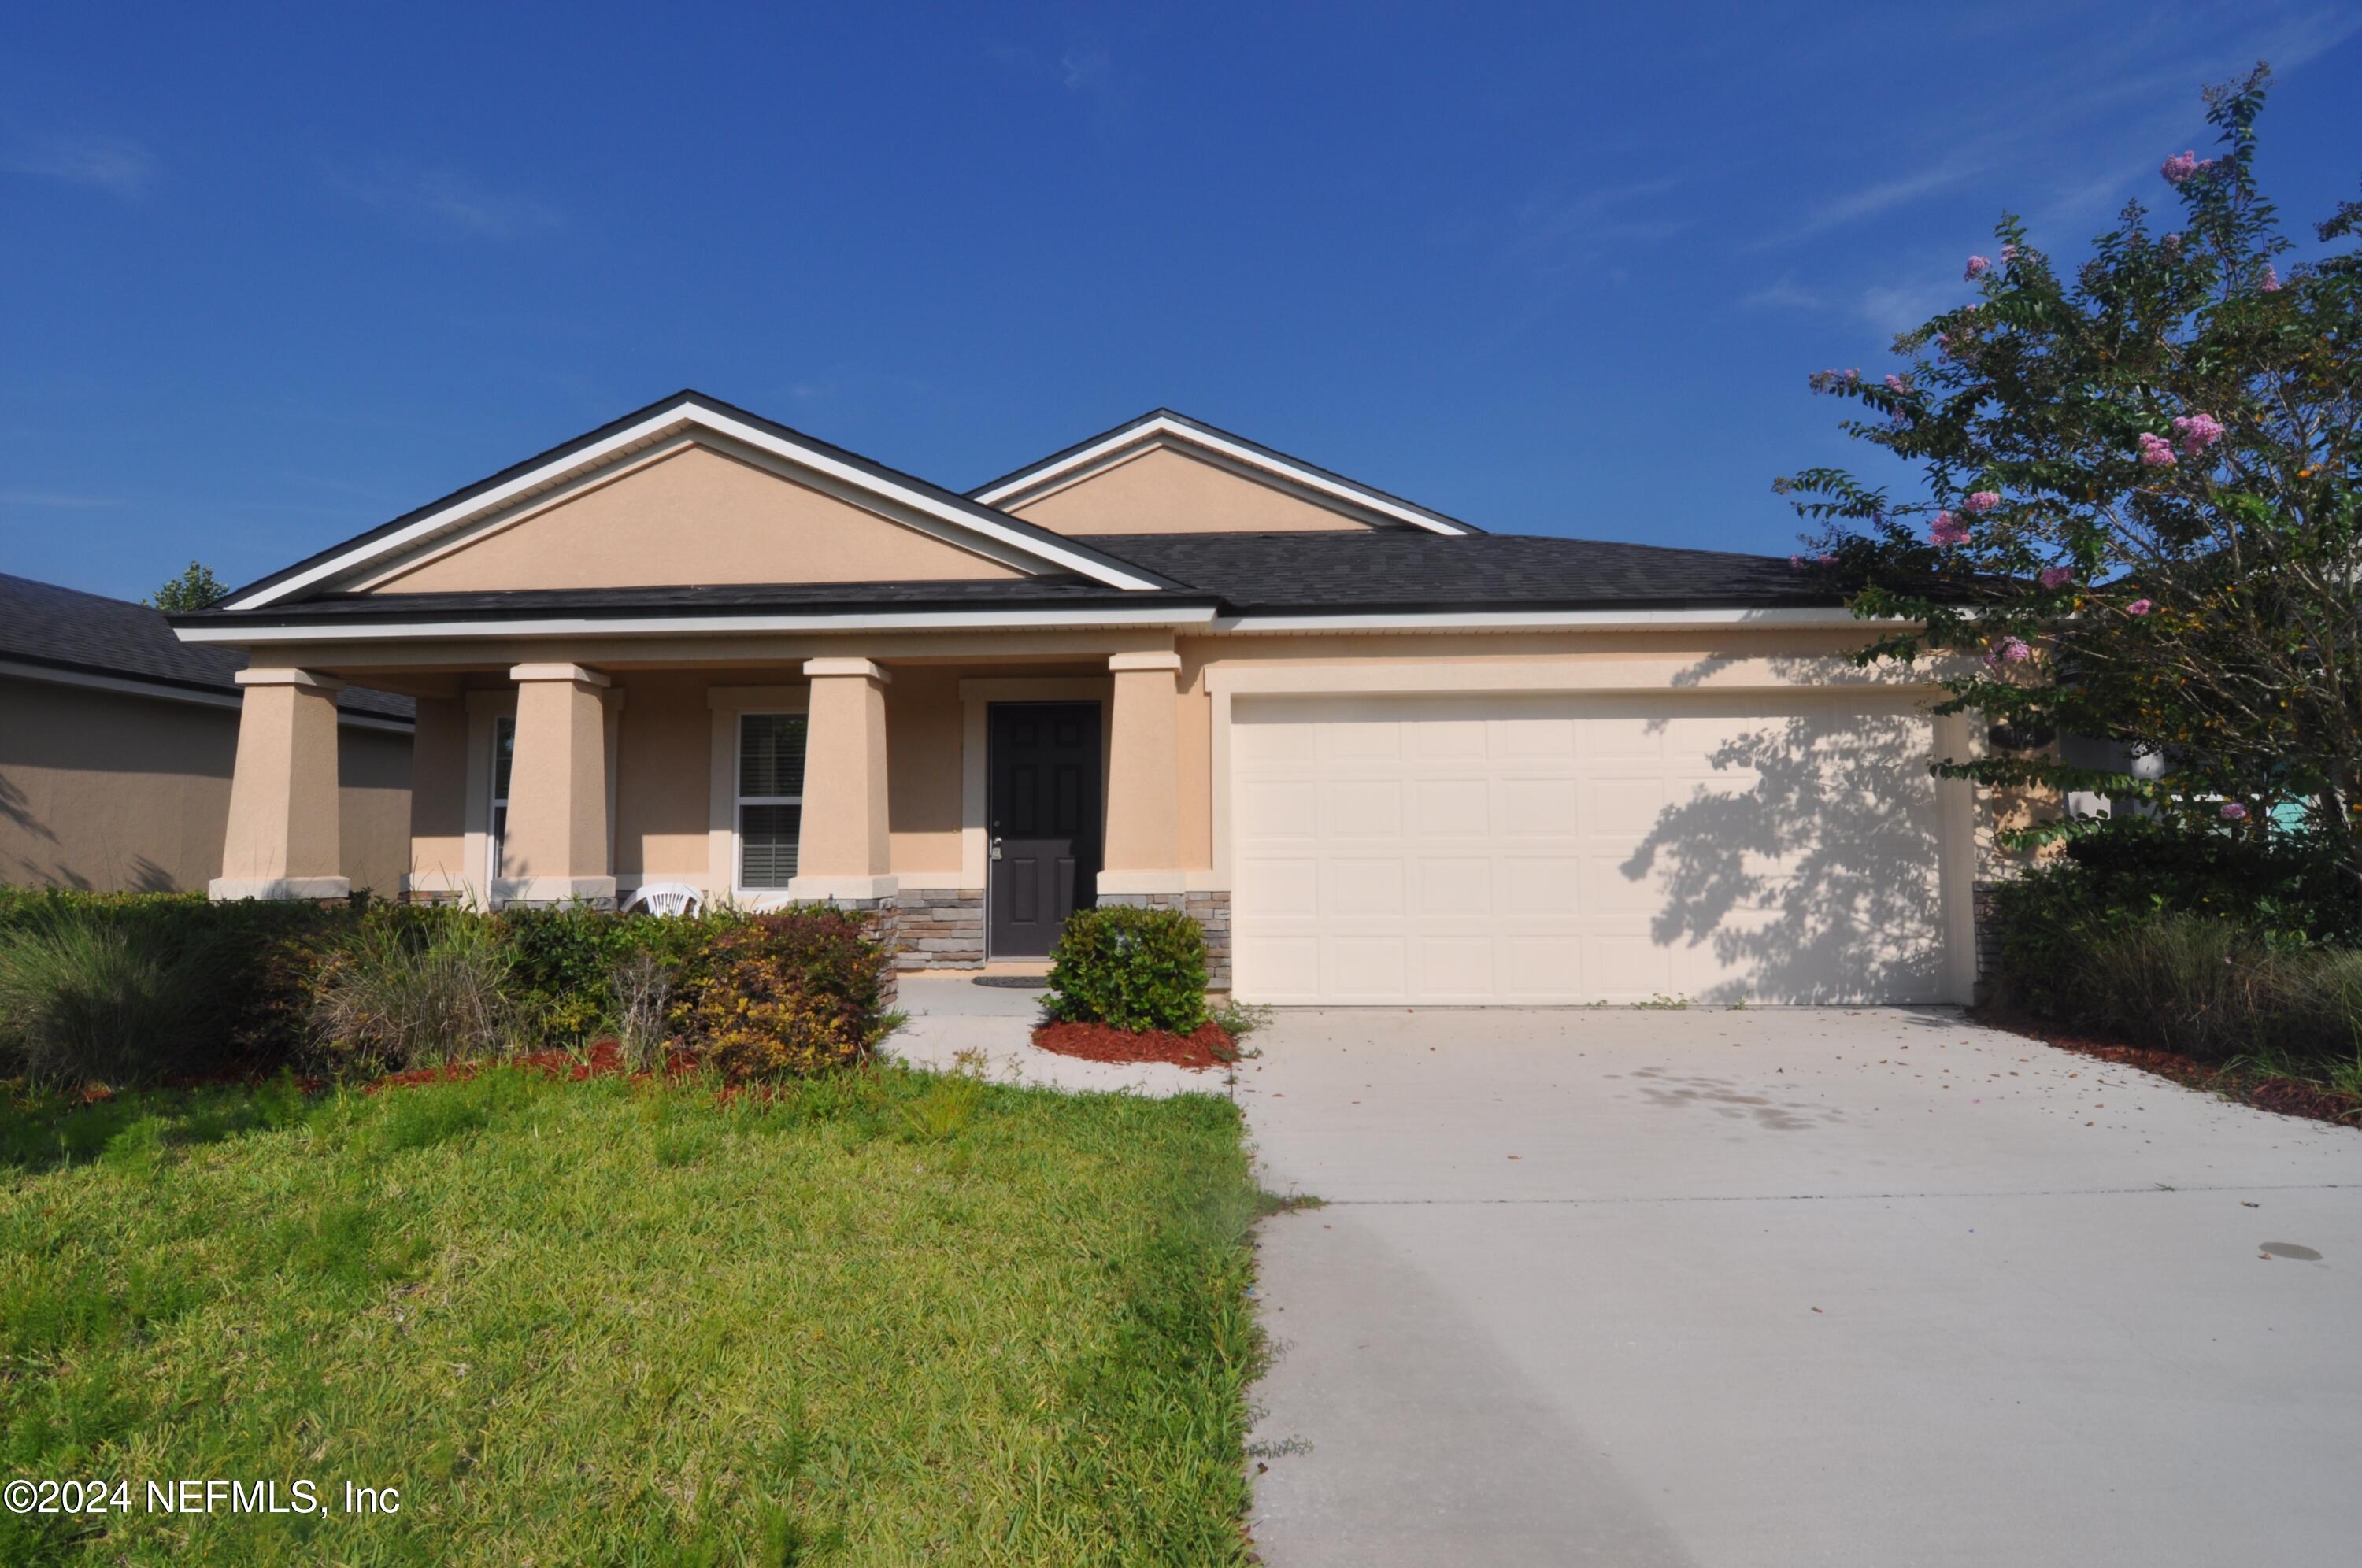
[[[1202,626],[1198,609],[952,609],[853,612],[822,616],[531,616],[510,621],[371,621],[333,626],[175,626],[187,642],[387,642],[420,638],[598,638],[598,635],[725,635],[725,633],[843,633],[843,631],[1035,631],[1044,626]]]

